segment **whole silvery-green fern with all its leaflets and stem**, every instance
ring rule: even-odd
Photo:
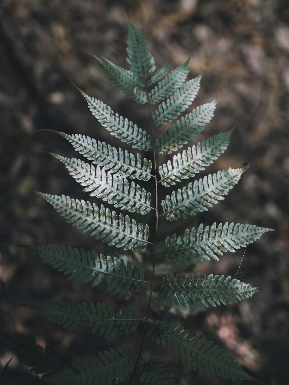
[[[192,104],[200,88],[202,74],[186,81],[189,73],[189,60],[168,75],[170,63],[156,70],[155,60],[150,54],[143,35],[129,20],[127,43],[129,70],[119,67],[103,57],[92,56],[96,57],[111,83],[135,102],[141,104],[160,102],[150,115],[152,126],[160,127],[171,122]],[[159,81],[162,77],[165,78]],[[76,88],[78,89],[78,87]],[[176,234],[166,236],[170,226],[164,218],[173,221],[208,211],[213,204],[224,199],[223,197],[228,194],[229,190],[239,181],[242,173],[249,167],[229,168],[209,174],[194,182],[190,181],[181,189],[167,195],[165,199],[160,197],[161,189],[160,191],[158,189],[160,183],[170,187],[194,177],[227,149],[234,128],[199,142],[197,145],[190,145],[182,153],[176,154],[173,159],[166,159],[166,163],[161,161],[161,165],[156,166],[158,159],[153,147],[157,148],[158,154],[163,155],[170,154],[187,144],[196,134],[203,131],[205,124],[211,121],[218,98],[211,103],[200,105],[180,117],[172,124],[172,127],[169,127],[164,134],[151,143],[151,136],[144,129],[139,128],[128,118],[114,113],[109,105],[101,100],[89,97],[80,89],[78,90],[85,97],[92,115],[111,135],[135,149],[151,150],[148,158],[154,160],[155,173],[151,174],[152,161],[143,158],[141,154],[134,155],[82,134],[69,135],[47,130],[66,138],[79,154],[82,154],[87,161],[91,161],[90,163],[74,157],[67,158],[53,152],[49,153],[66,165],[72,177],[84,186],[84,191],[89,192],[91,196],[113,204],[120,210],[135,212],[132,214],[133,216],[137,215],[136,213],[150,215],[143,217],[144,223],[137,223],[128,215],[124,216],[122,213],[116,214],[115,211],[110,211],[103,204],[99,208],[96,203],[89,201],[72,199],[65,195],[57,196],[35,192],[52,204],[67,223],[81,229],[83,233],[89,234],[94,239],[124,250],[144,250],[151,245],[154,246],[153,253],[150,253],[151,246],[149,246],[143,253],[121,251],[116,254],[114,251],[116,257],[111,258],[98,254],[94,250],[85,251],[70,246],[48,244],[27,247],[38,253],[55,269],[68,275],[68,279],[74,282],[87,283],[92,287],[106,283],[106,291],[115,293],[122,291],[126,293],[123,296],[126,300],[133,291],[142,290],[148,283],[150,284],[147,286],[150,295],[147,298],[148,306],[141,301],[140,308],[147,308],[147,313],[140,319],[138,319],[136,308],[132,305],[126,307],[111,303],[94,305],[92,302],[77,305],[67,301],[25,305],[69,330],[86,328],[92,332],[99,331],[107,337],[136,330],[142,324],[139,324],[140,320],[144,321],[145,325],[141,332],[143,333],[141,346],[139,350],[134,351],[134,354],[138,354],[136,363],[134,363],[128,347],[123,345],[117,350],[111,348],[109,352],[99,352],[98,357],[92,357],[79,367],[79,373],[75,373],[66,366],[58,367],[58,373],[55,373],[56,368],[51,365],[50,367],[54,370],[53,374],[43,377],[41,381],[55,385],[110,385],[122,382],[124,377],[133,371],[129,380],[129,383],[132,383],[139,359],[143,359],[141,352],[146,331],[152,329],[153,340],[157,344],[161,343],[169,352],[173,350],[175,357],[180,357],[181,362],[188,368],[198,370],[201,374],[204,372],[207,376],[218,376],[233,381],[258,382],[245,373],[231,356],[223,352],[222,348],[213,345],[212,341],[206,342],[202,335],[197,336],[182,327],[177,327],[176,323],[170,325],[163,320],[153,328],[148,327],[148,322],[151,321],[148,317],[150,310],[158,312],[163,318],[165,318],[166,312],[186,318],[200,310],[203,311],[209,305],[237,303],[259,290],[249,283],[232,279],[231,276],[227,278],[213,274],[206,276],[197,272],[192,275],[194,271],[192,264],[210,258],[218,261],[218,255],[246,247],[271,229],[226,222],[220,223],[218,226],[214,223],[205,229],[203,224],[200,224],[197,229],[185,230],[182,236]],[[150,111],[150,108],[148,110]],[[152,130],[155,130],[155,127],[152,127]],[[153,137],[156,137],[157,132],[153,133]],[[150,206],[151,196],[153,195],[155,198],[154,194],[151,194],[151,191],[145,189],[146,187],[143,187],[142,184],[129,182],[126,179],[147,182],[151,176],[155,180],[154,194],[156,197],[156,199],[152,199],[152,206]],[[150,186],[148,183],[146,185]],[[158,199],[162,199],[163,213],[160,215],[157,207]],[[146,224],[151,221],[151,218],[155,218],[151,214],[156,214],[157,221],[160,219],[156,226],[158,231],[152,234]],[[164,218],[159,218],[161,216]],[[155,225],[153,226],[155,227]],[[163,251],[157,251],[160,243],[160,229],[166,236]],[[148,241],[149,235],[152,242]],[[162,253],[166,259],[165,264],[156,256],[159,253]],[[118,258],[119,256],[121,258]],[[143,261],[147,271],[151,272],[149,281],[144,281],[143,265],[138,263],[133,266],[130,259]],[[178,272],[176,270],[178,265],[172,262],[182,262],[187,264],[188,268]],[[189,273],[188,276],[186,273]],[[158,277],[162,278],[159,289],[155,288]],[[149,286],[151,286],[151,290]],[[101,289],[103,287],[104,285],[101,285]],[[97,292],[97,298],[98,295]],[[140,301],[140,297],[138,301]],[[31,355],[28,354],[29,359],[26,362],[31,366],[34,365],[37,370],[44,368],[46,371],[47,366],[43,366],[39,353],[42,354],[42,348],[34,349]],[[59,370],[62,371],[59,372]],[[140,368],[140,374],[141,382],[145,382],[147,385],[175,384],[172,374],[156,360],[145,362]]]

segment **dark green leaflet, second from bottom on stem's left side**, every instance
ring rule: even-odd
[[[75,303],[68,301],[45,302],[33,305],[22,305],[37,311],[49,321],[62,325],[71,330],[91,329],[91,333],[99,330],[99,334],[105,333],[105,337],[113,337],[116,334],[128,334],[138,327],[138,312],[132,305],[125,307],[112,305],[111,303]]]

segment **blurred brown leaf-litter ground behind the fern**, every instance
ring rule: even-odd
[[[190,78],[202,68],[201,89],[190,110],[220,94],[214,119],[192,143],[238,122],[229,149],[206,172],[250,162],[224,201],[209,213],[178,221],[179,234],[181,226],[197,226],[201,221],[250,223],[276,230],[247,249],[199,268],[202,273],[232,275],[262,291],[238,305],[213,308],[180,323],[214,340],[266,385],[289,384],[289,4],[285,0],[1,1],[0,329],[5,334],[33,336],[37,344],[51,346],[71,365],[110,346],[126,343],[131,348],[139,339],[137,332],[108,340],[89,331],[68,332],[18,306],[48,300],[114,301],[114,296],[67,281],[32,251],[14,247],[55,243],[106,252],[101,243],[66,224],[30,189],[87,198],[65,167],[41,152],[77,156],[71,145],[53,133],[36,130],[86,134],[129,149],[96,121],[70,82],[149,129],[146,106],[135,105],[114,89],[97,61],[81,52],[103,55],[128,68],[123,10],[146,37],[157,67],[171,60],[174,69],[190,56]],[[161,127],[156,137],[167,128]],[[159,164],[172,156],[159,158]],[[168,225],[161,224],[162,228]],[[149,256],[138,257],[150,261]],[[141,298],[143,294],[122,300],[139,304]],[[146,303],[139,306],[145,314]],[[179,319],[166,316],[168,321]],[[11,344],[0,338],[0,365],[13,357],[5,384],[32,383]],[[173,371],[173,355],[147,341],[144,357],[149,360],[153,353]],[[182,385],[224,383],[190,373],[181,365],[175,374]]]

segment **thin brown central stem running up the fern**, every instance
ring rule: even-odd
[[[145,87],[146,90],[146,87]],[[136,359],[136,363],[134,365],[133,373],[131,374],[131,379],[129,381],[129,385],[131,385],[131,382],[133,380],[134,373],[136,371],[136,367],[138,366],[139,358],[141,357],[141,351],[143,349],[143,343],[144,343],[144,337],[146,335],[146,329],[148,328],[148,313],[150,311],[150,305],[151,305],[151,295],[153,293],[153,277],[155,274],[155,263],[156,263],[156,240],[158,238],[158,181],[156,178],[156,151],[155,151],[155,138],[154,138],[154,133],[153,133],[153,123],[151,119],[151,108],[150,108],[150,101],[148,101],[148,110],[150,114],[150,125],[151,125],[151,139],[153,142],[153,159],[154,159],[154,167],[155,167],[155,189],[156,189],[156,233],[155,233],[155,244],[153,246],[154,251],[153,251],[153,272],[151,274],[151,290],[150,290],[150,297],[148,300],[148,309],[146,311],[146,319],[144,323],[144,331],[143,331],[143,338],[141,340],[141,346],[139,348],[138,352],[138,358]]]

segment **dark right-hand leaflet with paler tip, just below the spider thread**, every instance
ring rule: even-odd
[[[175,305],[181,305],[184,308],[190,306],[208,307],[209,305],[226,305],[226,302],[237,303],[238,300],[245,300],[252,297],[253,294],[261,290],[255,288],[249,283],[240,282],[236,278],[231,280],[228,276],[224,280],[224,276],[213,276],[200,273],[188,275],[173,274],[166,275],[161,281],[161,288],[158,294],[161,299],[168,303],[173,302]]]

